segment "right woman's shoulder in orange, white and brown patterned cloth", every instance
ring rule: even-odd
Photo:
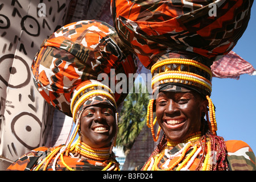
[[[242,140],[228,140],[225,143],[229,165],[232,170],[256,170],[256,158],[249,144]]]

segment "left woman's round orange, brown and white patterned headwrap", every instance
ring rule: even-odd
[[[118,73],[128,77],[129,73],[136,72],[136,65],[132,53],[122,46],[113,27],[99,20],[82,20],[49,36],[35,56],[31,69],[35,85],[44,99],[75,120],[78,106],[86,104],[80,98],[92,90],[93,94],[86,99],[100,95],[98,90],[101,93],[105,90],[109,98],[114,98],[110,103],[117,109],[127,92],[110,90],[110,81],[117,84],[117,80],[110,78]],[[103,76],[106,80],[98,78],[101,73],[106,74]]]

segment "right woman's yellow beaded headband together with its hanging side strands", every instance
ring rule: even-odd
[[[164,59],[155,63],[151,67],[152,77],[151,87],[153,93],[161,84],[181,84],[188,87],[193,86],[200,90],[199,92],[206,95],[209,104],[209,114],[207,113],[207,122],[209,130],[216,134],[217,123],[214,111],[214,105],[210,99],[212,92],[212,71],[206,65],[195,60],[171,58]],[[152,137],[156,142],[160,135],[160,126],[155,135],[154,125],[156,118],[153,119],[154,98],[149,101],[147,107],[147,126],[151,129]],[[209,119],[210,117],[210,119]]]

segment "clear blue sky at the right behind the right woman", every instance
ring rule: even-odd
[[[256,69],[256,5],[245,33],[233,51]],[[256,76],[239,80],[213,78],[212,101],[216,105],[217,134],[225,140],[243,140],[256,154]]]

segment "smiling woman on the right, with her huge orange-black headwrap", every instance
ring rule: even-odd
[[[217,135],[210,66],[250,19],[251,0],[112,0],[114,26],[152,73],[147,125],[155,142],[142,170],[255,170],[248,144]],[[155,113],[155,119],[154,119]],[[155,134],[154,125],[159,129]]]

